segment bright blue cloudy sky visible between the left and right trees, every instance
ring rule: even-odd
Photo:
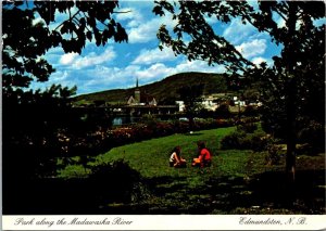
[[[186,56],[175,56],[170,48],[159,49],[156,31],[162,24],[172,28],[171,17],[160,17],[152,13],[153,1],[120,2],[118,11],[129,13],[115,14],[127,31],[128,42],[108,42],[97,47],[87,42],[82,54],[64,53],[61,48],[48,51],[45,57],[53,65],[53,73],[45,84],[34,82],[33,88],[45,89],[53,84],[77,86],[77,94],[85,94],[111,89],[133,88],[138,78],[139,85],[147,85],[185,72],[224,73],[224,66],[209,66],[203,61],[189,62]],[[65,15],[57,14],[58,22]],[[255,64],[272,64],[272,56],[278,55],[280,47],[271,41],[267,34],[259,33],[253,26],[242,25],[234,18],[222,24],[208,18],[214,24],[218,35],[230,41],[242,55]],[[276,18],[283,26],[281,18]],[[55,25],[53,25],[54,27]]]

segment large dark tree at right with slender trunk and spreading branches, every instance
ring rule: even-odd
[[[155,14],[164,16],[168,12],[173,20],[177,20],[173,31],[168,31],[165,25],[159,29],[161,49],[165,46],[176,54],[186,54],[189,60],[224,64],[229,76],[261,82],[265,111],[277,116],[279,119],[274,120],[276,127],[286,131],[286,171],[293,180],[299,119],[324,124],[325,24],[317,26],[314,23],[325,17],[325,3],[258,1],[258,9],[246,1],[155,3]],[[277,25],[276,16],[285,22],[285,26]],[[280,55],[272,57],[273,66],[265,63],[253,65],[214,31],[208,17],[215,17],[220,23],[237,17],[259,31],[268,33],[273,41],[283,46]],[[316,102],[318,106],[315,106]]]

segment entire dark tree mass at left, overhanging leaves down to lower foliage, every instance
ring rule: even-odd
[[[43,55],[51,48],[80,54],[86,41],[104,46],[127,41],[112,18],[117,1],[3,1],[2,112],[5,176],[29,177],[63,153],[60,137],[78,133],[79,117],[71,107],[76,88],[30,89],[55,72]],[[58,14],[66,18],[59,21]],[[55,24],[58,23],[58,24]],[[66,138],[65,138],[66,139]],[[9,174],[10,172],[10,174]],[[12,174],[12,175],[11,175]]]

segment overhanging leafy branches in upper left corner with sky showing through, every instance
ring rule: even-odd
[[[86,40],[97,46],[109,39],[127,41],[125,29],[112,18],[117,1],[4,1],[2,90],[10,95],[32,80],[47,81],[54,72],[42,57],[50,49],[80,54]],[[54,27],[55,15],[67,18]]]

